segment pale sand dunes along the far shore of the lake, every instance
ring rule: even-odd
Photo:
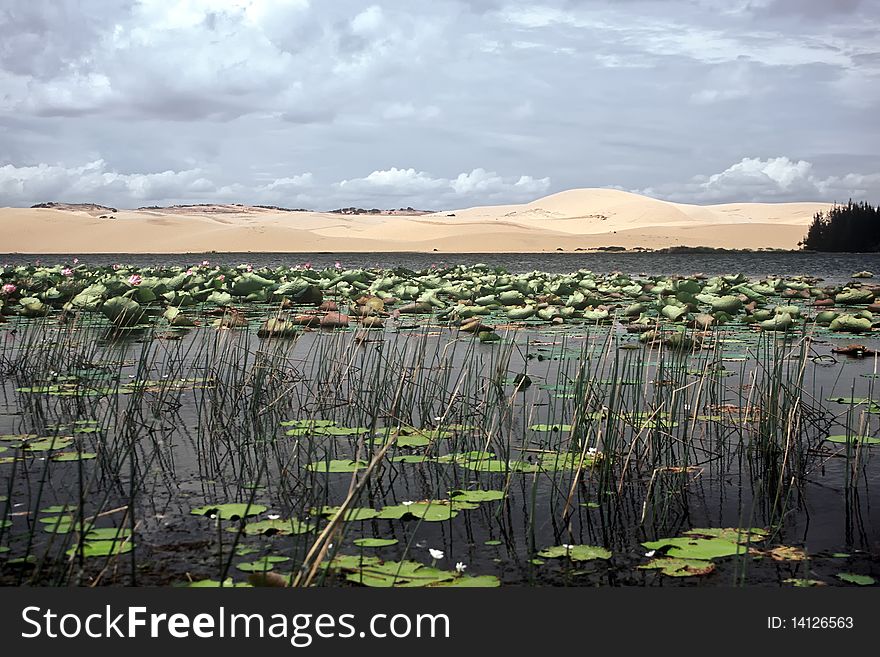
[[[4,253],[574,251],[618,246],[796,249],[829,203],[669,203],[577,189],[526,203],[422,216],[348,216],[224,206],[121,210],[115,219],[56,209],[0,208]],[[219,212],[217,210],[220,210]],[[454,214],[454,217],[448,215]]]

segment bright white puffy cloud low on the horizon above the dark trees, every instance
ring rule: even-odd
[[[880,173],[822,177],[806,160],[747,157],[720,173],[695,176],[687,183],[633,191],[688,203],[860,200],[880,195]]]

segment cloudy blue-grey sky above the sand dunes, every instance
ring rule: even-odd
[[[880,0],[0,0],[0,206],[880,201]]]

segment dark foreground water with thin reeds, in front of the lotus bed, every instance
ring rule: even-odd
[[[10,334],[13,328],[18,331]],[[132,522],[119,509],[133,502],[136,561],[127,555],[114,560],[103,583],[216,578],[227,562],[229,574],[241,581],[246,575],[235,565],[262,555],[297,563],[314,533],[242,537],[239,546],[253,552],[239,555],[232,552],[234,535],[227,533],[237,523],[190,513],[253,495],[268,508],[260,519],[277,514],[307,521],[312,509],[339,504],[351,475],[313,472],[308,464],[354,458],[364,445],[358,436],[287,436],[280,422],[297,418],[332,419],[343,427],[385,424],[392,417],[413,426],[473,427],[432,448],[395,448],[394,457],[431,458],[392,459],[356,506],[441,500],[461,489],[506,493],[503,502],[481,504],[444,522],[348,523],[345,536],[336,539],[342,554],[430,564],[429,550],[436,549],[444,553],[442,568],[461,562],[470,574],[519,585],[779,586],[791,578],[840,584],[839,572],[878,574],[880,468],[871,452],[880,448],[851,454],[825,442],[847,427],[875,434],[877,416],[866,407],[830,400],[876,398],[878,364],[832,358],[832,346],[845,341],[839,337],[821,336],[803,360],[797,341],[780,343],[770,334],[736,328],[723,333],[714,351],[691,355],[664,355],[638,343],[636,335],[576,326],[535,326],[511,334],[505,344],[478,345],[424,320],[407,320],[368,338],[313,331],[295,341],[211,328],[190,330],[179,340],[155,339],[151,330],[120,337],[99,327],[71,333],[35,322],[7,324],[0,335],[6,371],[0,378],[0,434],[60,432],[98,454],[73,463],[30,454],[0,465],[0,495],[9,498],[3,543],[11,549],[0,557],[35,555],[43,570],[34,583],[89,582],[103,566],[100,559],[87,560],[84,570],[64,565],[72,535],[47,534],[36,522],[51,515],[38,509],[56,504],[83,504],[90,514],[110,510],[98,525],[112,527]],[[864,342],[880,348],[878,340]],[[57,370],[41,370],[41,363]],[[804,366],[798,387],[793,381]],[[571,381],[582,367],[589,392],[576,394]],[[700,370],[717,370],[718,376],[701,377]],[[523,372],[532,385],[516,393],[512,381]],[[96,396],[26,391],[47,377],[78,377],[104,390],[152,383],[142,391]],[[181,379],[196,383],[169,386]],[[746,410],[779,404],[777,392],[799,399],[795,411],[786,411],[802,417],[788,437],[779,430],[792,426],[785,417],[767,410],[752,417]],[[621,413],[674,408],[676,421],[661,415],[659,424],[638,429],[621,428],[618,418],[612,440],[612,425],[591,419],[590,444],[616,454],[610,479],[601,470],[576,481],[571,470],[480,472],[442,461],[446,454],[486,449],[496,458],[527,463],[547,451],[568,453],[567,431],[529,427],[570,422],[585,394],[598,413],[602,406]],[[76,423],[89,420],[98,430],[77,433],[90,425]],[[795,447],[782,456],[778,450],[789,440]],[[0,444],[6,447],[0,456],[16,449],[14,439]],[[764,444],[775,445],[773,456],[767,457]],[[799,480],[782,476],[786,468],[799,472]],[[716,572],[700,578],[639,569],[648,561],[642,541],[691,527],[769,526],[776,530],[768,547],[795,547],[806,559],[745,555],[719,562]],[[353,543],[359,537],[398,543],[363,549]],[[535,560],[538,550],[561,544],[604,546],[614,557],[583,564]],[[290,572],[285,564],[277,570]],[[4,568],[0,560],[0,576],[15,584],[31,574]]]

